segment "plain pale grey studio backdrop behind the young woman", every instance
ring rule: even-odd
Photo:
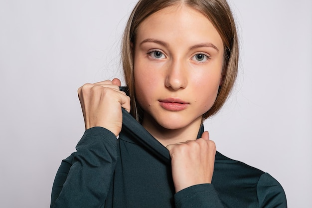
[[[312,1],[230,0],[239,78],[205,122],[217,150],[268,172],[312,207]],[[77,89],[122,77],[135,0],[0,0],[0,207],[47,208],[84,133]]]

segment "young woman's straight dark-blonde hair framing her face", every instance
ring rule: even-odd
[[[153,13],[178,3],[197,9],[207,16],[219,32],[224,45],[223,82],[212,107],[203,115],[206,119],[223,106],[236,80],[238,70],[238,39],[235,21],[226,0],[139,0],[127,22],[122,40],[122,66],[128,93],[131,98],[131,114],[142,122],[142,109],[136,102],[134,80],[134,45],[140,24]]]

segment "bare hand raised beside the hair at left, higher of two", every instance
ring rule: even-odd
[[[94,84],[84,84],[78,89],[78,97],[86,129],[100,126],[116,136],[122,128],[122,110],[130,112],[130,97],[120,91],[121,82],[115,78]]]

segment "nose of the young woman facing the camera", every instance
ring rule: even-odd
[[[172,90],[184,89],[187,86],[187,64],[183,61],[171,61],[165,75],[165,86]]]

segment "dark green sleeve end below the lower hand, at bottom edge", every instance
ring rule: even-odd
[[[174,195],[175,208],[224,208],[212,184],[188,187]]]

